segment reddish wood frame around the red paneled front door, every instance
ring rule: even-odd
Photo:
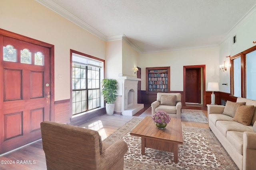
[[[5,37],[10,37],[24,41],[27,43],[32,43],[35,45],[40,45],[50,49],[50,121],[54,121],[54,45],[44,43],[42,41],[26,37],[17,33],[13,33],[4,29],[0,29],[0,35]],[[1,106],[2,104],[0,104]]]

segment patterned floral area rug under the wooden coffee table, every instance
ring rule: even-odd
[[[142,119],[133,118],[104,142],[126,141],[128,151],[124,156],[125,170],[238,170],[226,150],[210,129],[182,127],[183,145],[178,148],[178,163],[173,161],[173,153],[156,149],[145,149],[141,154],[140,137],[130,136],[130,131]]]

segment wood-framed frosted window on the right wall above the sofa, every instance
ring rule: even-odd
[[[230,58],[231,95],[256,100],[256,46]]]

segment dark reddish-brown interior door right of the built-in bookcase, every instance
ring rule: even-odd
[[[186,68],[185,102],[201,104],[201,68]]]

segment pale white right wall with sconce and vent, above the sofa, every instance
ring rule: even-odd
[[[243,21],[243,23],[236,27],[227,38],[220,44],[220,59],[219,65],[226,61],[227,71],[220,72],[220,91],[230,93],[230,58],[226,56],[234,56],[256,44],[252,43],[256,41],[256,12],[252,12],[250,16]],[[236,35],[236,43],[233,44],[233,37]],[[221,85],[228,83],[228,86]]]

